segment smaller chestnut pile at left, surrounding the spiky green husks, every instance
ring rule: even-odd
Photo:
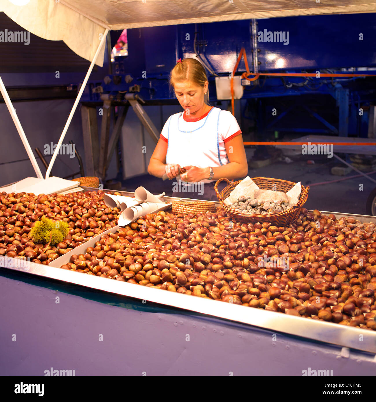
[[[103,191],[39,196],[0,193],[0,255],[48,264],[92,236],[116,226],[120,211],[108,208],[103,195]],[[42,216],[53,222],[62,220],[70,226],[66,238],[56,246],[46,247],[29,238],[31,228]]]

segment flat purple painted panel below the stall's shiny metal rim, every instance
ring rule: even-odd
[[[41,376],[50,367],[95,376],[301,377],[308,367],[336,376],[375,373],[370,353],[351,350],[341,357],[337,345],[69,283],[36,285],[3,275],[0,375]]]

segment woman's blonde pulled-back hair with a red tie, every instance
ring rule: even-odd
[[[198,60],[191,57],[177,62],[176,66],[170,72],[170,79],[168,81],[170,88],[173,88],[176,82],[182,81],[192,81],[196,85],[203,87],[205,81],[208,81],[205,68]],[[209,88],[206,95],[204,95],[204,101],[205,103],[209,103]]]

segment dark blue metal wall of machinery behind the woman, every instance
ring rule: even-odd
[[[129,29],[129,56],[115,58],[113,63],[115,74],[122,76],[121,82],[116,85],[113,81],[107,85],[96,82],[93,86],[101,85],[104,92],[119,96],[118,91],[128,91],[130,86],[138,84],[141,87],[139,94],[144,100],[158,100],[161,103],[172,101],[174,95],[168,87],[168,74],[177,59],[195,55],[194,45],[197,52],[205,55],[212,69],[220,76],[228,76],[233,70],[242,47],[246,49],[251,71],[254,71],[253,54],[257,53],[259,72],[319,70],[323,73],[345,72],[345,69],[351,69],[351,72],[360,74],[376,74],[376,14],[296,16],[258,20],[257,33],[265,30],[284,32],[285,35],[288,33],[288,44],[257,41],[257,49],[253,49],[251,20]],[[116,33],[113,35],[116,36]],[[366,71],[369,69],[373,71]],[[242,59],[238,73],[244,71],[245,64]],[[125,74],[130,74],[134,80],[126,84],[123,79]],[[208,73],[208,78],[210,100],[215,102],[214,76]],[[304,96],[296,100],[291,99],[297,95]],[[265,129],[283,130],[283,126],[286,126],[286,123],[273,123],[268,111],[276,102],[271,100],[274,97],[285,98],[285,109],[279,109],[280,123],[283,123],[280,113],[290,110],[294,103],[306,106],[305,113],[308,117],[303,113],[303,120],[311,119],[310,123],[307,127],[302,127],[298,119],[295,121],[290,113],[290,131],[366,136],[367,107],[376,100],[376,77],[308,80],[303,77],[260,78],[245,87],[240,107],[245,118],[247,108],[257,109],[254,110],[254,119],[262,136]],[[249,103],[247,100],[251,99],[258,100]],[[90,100],[99,100],[99,94],[90,95]],[[315,110],[311,109],[312,104]],[[364,117],[361,120],[358,113],[360,107],[364,109]],[[332,116],[323,116],[328,114],[328,109]],[[315,126],[317,123],[318,127]]]

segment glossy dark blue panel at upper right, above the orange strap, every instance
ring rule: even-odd
[[[289,43],[258,42],[260,70],[376,66],[374,13],[258,20],[265,29],[289,32]]]

